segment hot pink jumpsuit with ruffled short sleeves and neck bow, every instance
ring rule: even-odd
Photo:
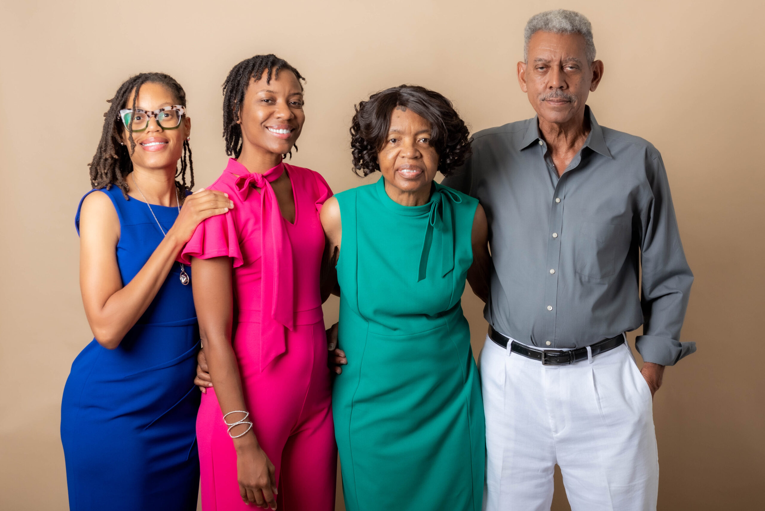
[[[270,181],[287,171],[295,223],[284,220]],[[179,260],[233,259],[233,349],[249,420],[276,467],[278,509],[334,509],[337,447],[319,272],[324,231],[318,210],[332,191],[317,172],[279,164],[250,174],[235,159],[208,187],[233,210],[197,227]],[[194,278],[194,275],[192,275]],[[197,415],[202,509],[253,509],[239,496],[236,451],[214,389]]]

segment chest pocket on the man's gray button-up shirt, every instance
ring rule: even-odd
[[[576,272],[592,279],[608,278],[617,272],[629,249],[627,226],[584,222],[574,243]]]

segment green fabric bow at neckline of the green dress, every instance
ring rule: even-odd
[[[422,252],[420,252],[417,282],[425,280],[425,273],[428,269],[428,257],[433,245],[434,230],[437,230],[441,235],[441,276],[446,276],[454,269],[454,212],[452,211],[451,203],[461,202],[462,198],[457,192],[448,187],[436,185],[436,189],[431,197],[425,237],[422,239]]]

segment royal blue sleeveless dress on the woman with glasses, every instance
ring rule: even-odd
[[[116,186],[97,191],[119,216],[117,262],[127,285],[163,236],[146,203],[125,200]],[[78,233],[81,207],[82,200]],[[151,207],[168,232],[177,208]],[[199,328],[191,286],[180,275],[175,263],[119,347],[107,350],[94,339],[72,364],[61,402],[71,511],[197,509]]]

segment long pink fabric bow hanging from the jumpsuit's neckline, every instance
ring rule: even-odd
[[[235,161],[236,162],[236,161]],[[236,162],[236,164],[239,164]],[[231,164],[229,163],[229,166]],[[246,171],[246,169],[243,169]],[[286,351],[285,328],[295,330],[295,282],[292,246],[282,210],[271,186],[285,172],[280,163],[263,174],[243,173],[234,185],[246,200],[253,186],[260,188],[261,291],[260,291],[260,370]],[[233,174],[239,174],[238,171]],[[294,194],[293,190],[293,194]]]

